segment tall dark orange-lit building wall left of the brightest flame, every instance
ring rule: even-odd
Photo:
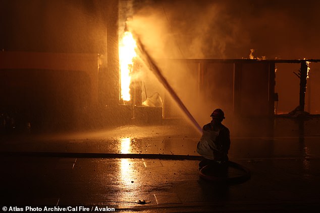
[[[101,106],[119,104],[118,0],[4,0],[0,7],[1,112],[96,120]]]

